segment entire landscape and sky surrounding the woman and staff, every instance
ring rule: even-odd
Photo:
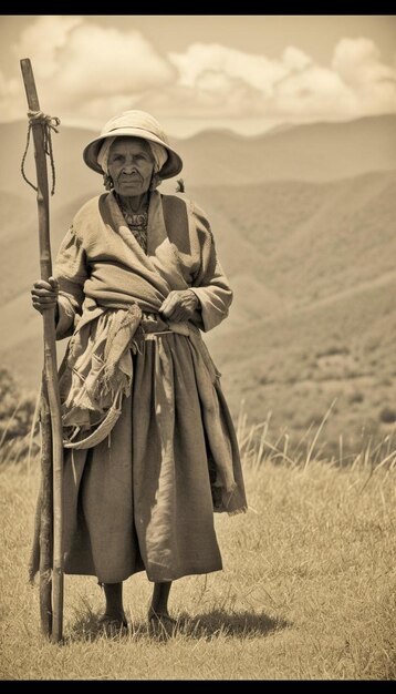
[[[2,16],[0,38],[1,677],[394,681],[396,17]],[[27,568],[42,320],[21,58],[61,119],[53,255],[104,190],[83,147],[137,108],[180,152],[235,289],[205,339],[249,510],[216,514],[223,571],[176,582],[165,644],[147,629],[144,572],[124,584],[126,633],[101,632],[94,576],[67,575],[64,642],[40,634]]]

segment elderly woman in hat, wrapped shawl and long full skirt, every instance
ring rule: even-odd
[[[126,624],[122,584],[145,570],[148,619],[173,624],[173,581],[221,569],[213,511],[247,508],[219,372],[200,331],[232,293],[204,213],[160,195],[181,171],[157,121],[127,111],[83,153],[108,191],[76,214],[54,277],[32,288],[71,336],[61,367],[64,564],[104,585],[102,623]]]

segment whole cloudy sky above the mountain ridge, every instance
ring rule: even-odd
[[[41,108],[101,130],[128,109],[169,135],[396,112],[396,16],[0,16],[0,121]]]

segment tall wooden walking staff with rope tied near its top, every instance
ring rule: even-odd
[[[29,134],[31,130],[34,141],[38,185],[33,187],[37,190],[38,200],[41,279],[48,282],[52,275],[52,262],[46,156],[51,157],[52,173],[54,173],[51,129],[54,129],[54,124],[59,124],[59,119],[51,119],[40,111],[32,65],[28,58],[21,60],[21,70],[29,105]],[[29,135],[27,146],[29,146]],[[24,176],[23,163],[24,157],[22,162]],[[30,182],[28,181],[28,183]],[[30,183],[30,185],[32,184]],[[40,521],[40,614],[43,632],[51,636],[53,642],[59,642],[62,639],[63,629],[63,436],[58,384],[54,309],[43,312],[43,333],[42,483],[41,512],[40,519],[38,519]]]

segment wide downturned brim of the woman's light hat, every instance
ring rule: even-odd
[[[157,137],[154,133],[149,133],[140,127],[117,127],[113,132],[108,132],[105,135],[101,135],[100,137],[95,137],[83,151],[84,162],[90,169],[96,171],[96,173],[104,174],[105,172],[97,163],[97,155],[102,147],[102,144],[107,137],[140,137],[140,140],[148,140],[149,142],[156,142],[166,149],[168,153],[168,159],[166,160],[164,166],[158,172],[158,175],[161,178],[171,178],[173,176],[177,176],[183,169],[181,157],[173,150],[166,142]]]

